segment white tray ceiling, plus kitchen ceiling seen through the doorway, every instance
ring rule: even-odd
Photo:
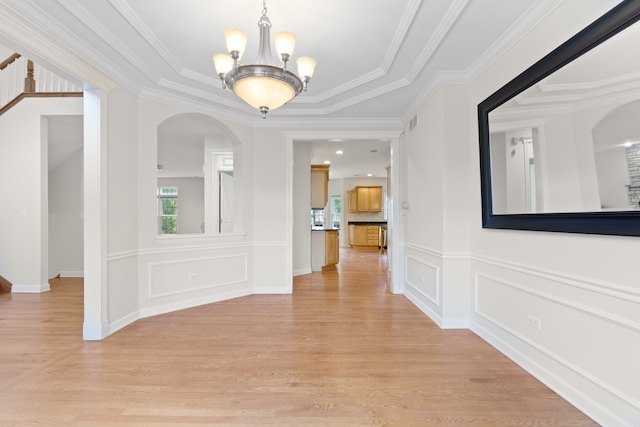
[[[318,66],[308,92],[266,120],[222,89],[211,61],[226,52],[229,27],[249,35],[243,62],[253,61],[259,0],[0,0],[0,44],[76,83],[108,89],[115,81],[149,99],[249,125],[401,129],[439,87],[473,81],[560,3],[268,0],[272,35],[293,32],[294,61],[311,56]],[[369,144],[350,141],[353,151],[345,149],[343,159],[377,163],[340,173],[384,176],[388,142]],[[338,145],[316,141],[314,161]],[[329,160],[338,174],[340,160]]]

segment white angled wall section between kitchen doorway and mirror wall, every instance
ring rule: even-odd
[[[467,102],[465,87],[443,88],[405,130],[404,292],[443,328],[468,326]]]

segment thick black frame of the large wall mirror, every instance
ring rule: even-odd
[[[489,152],[492,110],[638,20],[640,2],[623,1],[478,104],[483,228],[640,236],[640,210],[494,214]]]

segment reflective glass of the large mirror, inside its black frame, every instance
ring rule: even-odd
[[[489,113],[494,214],[640,209],[637,27]]]

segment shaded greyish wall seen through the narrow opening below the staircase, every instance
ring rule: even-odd
[[[80,148],[49,172],[49,278],[83,275],[83,155]]]

